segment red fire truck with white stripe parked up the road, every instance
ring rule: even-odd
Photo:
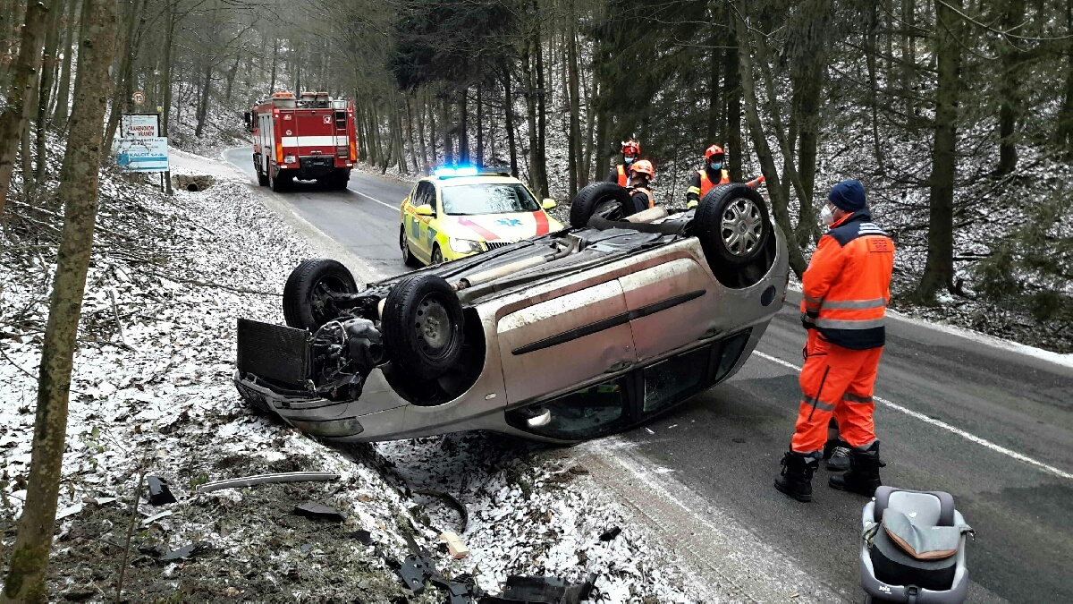
[[[327,92],[273,92],[246,113],[258,183],[278,191],[297,178],[346,189],[357,161],[354,101]]]

